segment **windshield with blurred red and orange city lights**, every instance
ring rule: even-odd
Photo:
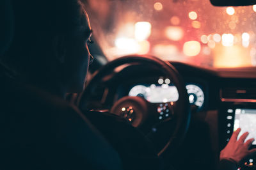
[[[214,68],[256,66],[256,6],[209,0],[89,0],[94,35],[111,61],[151,54]]]

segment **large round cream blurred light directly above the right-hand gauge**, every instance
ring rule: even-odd
[[[201,45],[196,41],[189,41],[184,43],[183,52],[188,57],[197,56],[200,53]]]

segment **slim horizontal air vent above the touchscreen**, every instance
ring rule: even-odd
[[[221,98],[256,99],[256,88],[223,88]]]

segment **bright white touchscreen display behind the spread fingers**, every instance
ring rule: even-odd
[[[249,132],[246,140],[252,137],[256,140],[256,109],[236,109],[234,130],[237,128],[241,128],[238,139],[244,132]],[[253,144],[256,144],[256,141]]]

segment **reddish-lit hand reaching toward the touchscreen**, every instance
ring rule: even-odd
[[[241,162],[241,160],[248,155],[256,152],[256,148],[249,150],[252,145],[254,139],[248,139],[245,143],[244,140],[248,136],[248,132],[245,132],[241,137],[237,140],[237,136],[241,132],[241,128],[237,128],[237,130],[232,134],[227,146],[220,152],[220,160],[228,159],[234,160],[237,164]]]

